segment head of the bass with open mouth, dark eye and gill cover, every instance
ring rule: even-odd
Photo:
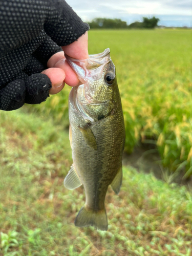
[[[109,116],[115,106],[114,90],[117,87],[110,49],[89,55],[84,60],[65,56],[82,83],[70,93],[70,100],[78,114],[92,123]]]

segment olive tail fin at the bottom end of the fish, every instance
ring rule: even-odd
[[[86,206],[83,206],[75,219],[75,226],[94,226],[95,228],[98,228],[100,230],[107,230],[108,217],[106,216],[105,208],[102,211],[97,212],[86,209]]]

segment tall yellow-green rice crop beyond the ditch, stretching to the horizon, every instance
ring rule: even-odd
[[[125,151],[153,143],[162,164],[192,173],[190,30],[92,30],[89,53],[111,49],[126,127]],[[66,86],[30,110],[68,121]],[[182,164],[182,165],[181,165]]]

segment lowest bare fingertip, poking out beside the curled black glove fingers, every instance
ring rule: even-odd
[[[49,68],[41,72],[42,74],[47,75],[52,83],[52,88],[49,91],[49,94],[59,93],[65,86],[64,79],[66,77],[65,72],[59,68]]]

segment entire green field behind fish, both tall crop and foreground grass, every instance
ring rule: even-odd
[[[90,31],[90,54],[111,49],[126,126],[125,151],[152,144],[166,181],[123,167],[106,196],[108,231],[76,228],[83,187],[63,186],[71,164],[66,88],[46,102],[0,112],[0,256],[192,255],[190,30]],[[167,176],[168,175],[168,176]],[[184,179],[183,178],[183,179]]]

